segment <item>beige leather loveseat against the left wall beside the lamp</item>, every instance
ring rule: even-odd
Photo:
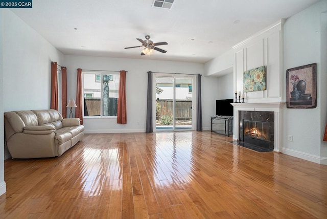
[[[79,119],[55,109],[5,113],[5,141],[12,158],[61,156],[84,136]]]

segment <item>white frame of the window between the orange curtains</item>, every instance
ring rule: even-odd
[[[94,82],[95,83],[101,83],[101,88],[100,88],[100,115],[99,116],[84,116],[84,105],[85,105],[85,102],[84,102],[84,98],[87,98],[87,97],[84,97],[84,94],[85,94],[85,90],[84,90],[84,75],[86,75],[86,74],[88,74],[88,75],[95,75],[95,80],[94,80]],[[100,81],[99,80],[97,80],[97,76],[98,75],[101,75],[100,76]],[[106,72],[106,71],[82,71],[82,90],[83,90],[83,100],[82,100],[82,105],[83,105],[83,107],[82,107],[82,115],[83,115],[83,119],[84,118],[117,118],[117,116],[103,116],[103,87],[102,87],[102,79],[103,79],[103,77],[102,77],[102,75],[110,75],[109,76],[109,81],[114,81],[114,76],[116,75],[116,78],[117,78],[117,80],[118,80],[118,83],[119,83],[119,78],[120,78],[120,72],[110,72],[110,73],[108,73],[108,72]],[[97,89],[95,89],[95,90],[97,90]],[[109,89],[109,93],[110,93],[110,91],[112,92],[112,91],[115,91],[115,90],[110,90]],[[117,89],[116,90],[117,92],[112,92],[112,93],[117,93],[117,94],[119,94],[119,89]],[[87,92],[89,92],[89,91],[87,91]],[[90,94],[90,93],[88,93],[88,94]],[[92,97],[94,97],[94,94],[92,94]],[[89,97],[88,97],[89,98]],[[117,113],[116,113],[117,114]]]

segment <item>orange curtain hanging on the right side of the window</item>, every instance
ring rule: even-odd
[[[121,71],[117,104],[117,123],[126,124],[126,72]]]

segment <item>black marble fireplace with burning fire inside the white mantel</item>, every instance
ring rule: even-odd
[[[274,113],[262,111],[240,111],[241,143],[274,149]]]

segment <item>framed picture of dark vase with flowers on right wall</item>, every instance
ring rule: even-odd
[[[317,106],[317,63],[286,71],[286,105],[287,108]]]

